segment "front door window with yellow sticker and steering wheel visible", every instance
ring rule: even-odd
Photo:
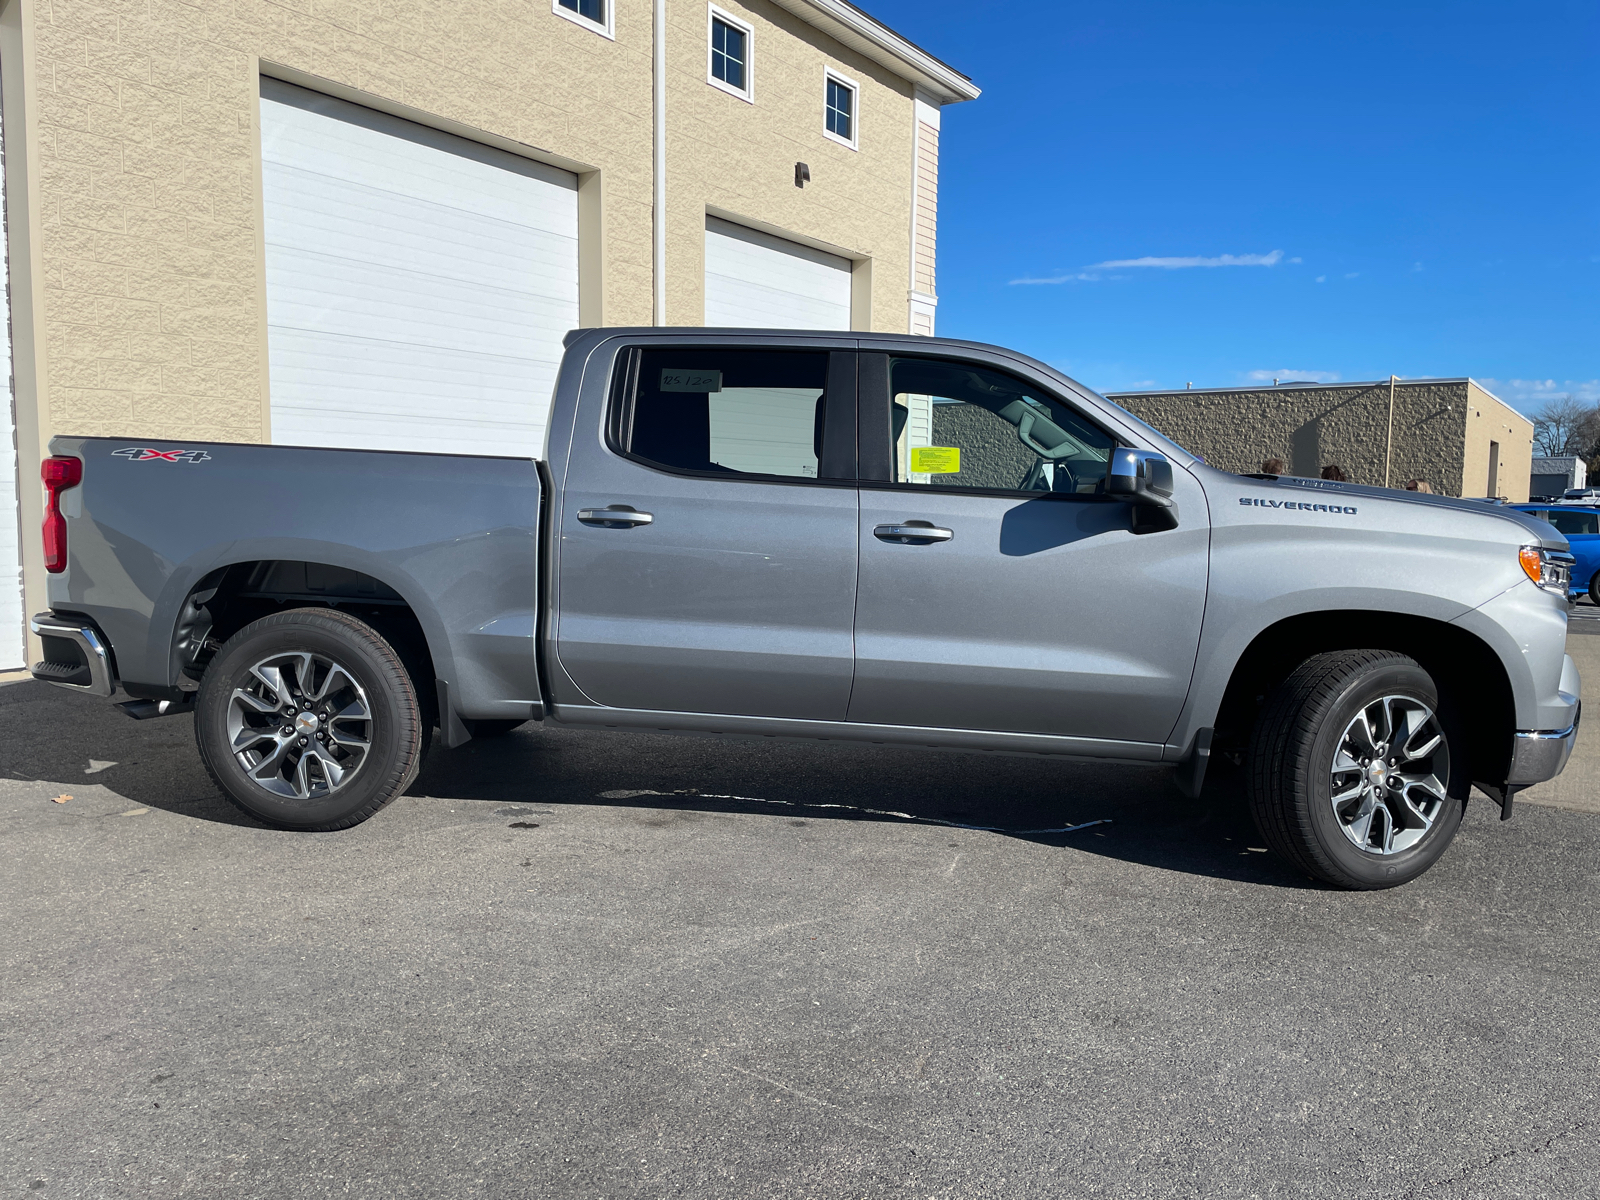
[[[1054,397],[957,362],[893,358],[896,483],[1094,494],[1117,445]]]

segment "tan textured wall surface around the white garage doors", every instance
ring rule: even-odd
[[[853,325],[907,330],[917,69],[795,0],[718,6],[754,29],[754,102],[706,82],[706,0],[667,3],[664,323],[704,320],[715,213],[854,259]],[[550,0],[0,0],[19,475],[58,432],[270,438],[264,74],[579,173],[581,320],[651,323],[651,0],[613,29]],[[859,149],[822,133],[824,67],[859,86]]]

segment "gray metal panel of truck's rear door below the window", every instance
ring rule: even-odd
[[[557,523],[555,658],[594,704],[843,720],[856,493],[685,478],[590,443]],[[650,525],[597,528],[627,504]]]

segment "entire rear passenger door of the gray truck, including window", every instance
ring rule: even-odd
[[[648,347],[618,370],[562,496],[562,669],[598,706],[843,720],[854,354]]]

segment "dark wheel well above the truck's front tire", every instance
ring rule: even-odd
[[[1438,685],[1440,707],[1461,722],[1472,779],[1504,782],[1515,704],[1499,656],[1464,629],[1403,613],[1301,613],[1261,630],[1234,664],[1222,694],[1218,752],[1237,760],[1272,690],[1307,658],[1330,650],[1394,650],[1416,659]]]

